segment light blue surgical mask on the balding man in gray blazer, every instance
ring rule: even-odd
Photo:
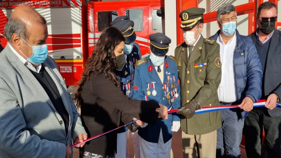
[[[25,42],[25,40],[23,40],[23,41]],[[27,43],[27,42],[25,42],[25,43]],[[29,44],[27,43],[27,45],[29,45]],[[32,47],[32,56],[31,57],[25,56],[24,53],[22,52],[22,50],[20,50],[20,52],[22,52],[22,54],[27,58],[26,59],[27,61],[29,61],[30,63],[32,63],[34,65],[39,65],[47,59],[47,57],[48,57],[48,45],[47,44],[35,45],[35,46],[29,45],[29,46]]]

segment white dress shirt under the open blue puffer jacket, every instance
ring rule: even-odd
[[[218,88],[218,98],[223,102],[238,101],[236,94],[236,81],[233,68],[233,55],[236,47],[236,33],[225,44],[221,35],[217,39],[217,43],[220,44],[220,61],[221,61],[221,82]]]

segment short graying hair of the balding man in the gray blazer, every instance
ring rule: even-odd
[[[36,10],[30,7],[29,9],[27,9],[25,11],[28,14],[34,16],[34,11],[36,11]],[[36,17],[36,15],[35,15],[34,20],[40,24],[47,24],[46,19],[40,14],[38,17]],[[23,40],[29,39],[29,32],[27,31],[26,23],[23,20],[21,20],[17,17],[14,17],[14,16],[10,16],[8,22],[6,23],[6,25],[4,27],[4,34],[5,34],[6,39],[11,43],[12,43],[12,34],[17,34],[17,37],[20,36],[20,37],[22,37]]]

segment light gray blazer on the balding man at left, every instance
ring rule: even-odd
[[[86,133],[55,61],[48,56],[42,65],[57,85],[69,114],[68,135],[43,87],[7,45],[0,53],[1,158],[64,158],[66,145]]]

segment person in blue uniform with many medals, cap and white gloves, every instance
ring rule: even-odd
[[[169,109],[180,107],[180,84],[177,60],[167,56],[171,39],[162,33],[149,35],[150,55],[136,62],[134,99],[161,103]],[[155,125],[139,128],[142,158],[170,157],[173,131],[178,131],[180,118],[169,114],[167,120],[159,118]]]

